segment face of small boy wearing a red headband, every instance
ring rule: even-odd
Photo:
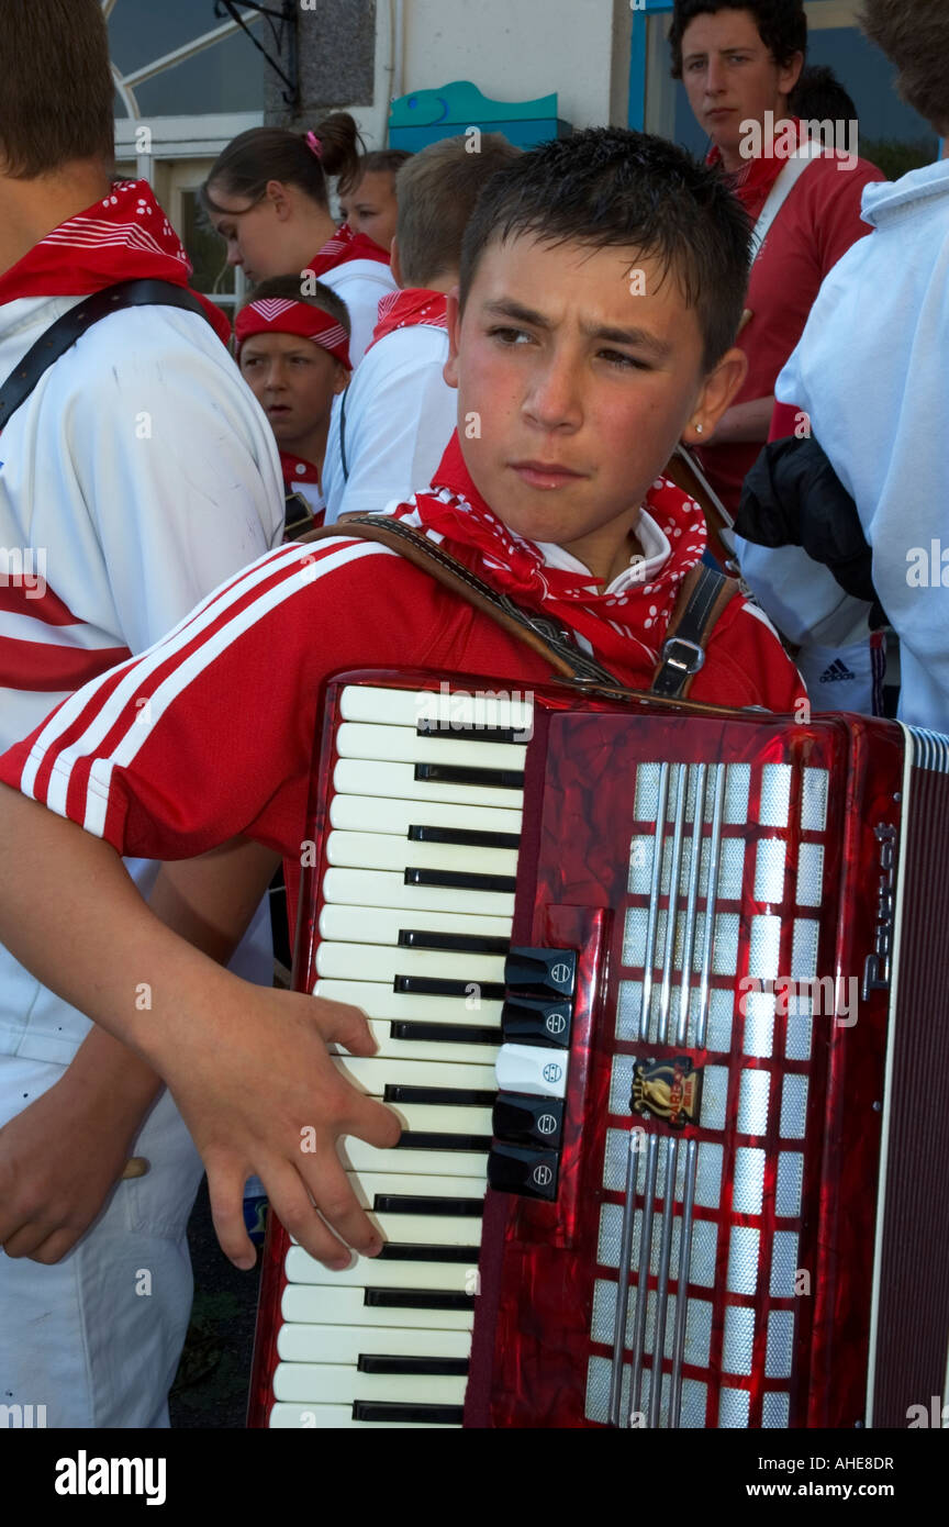
[[[327,421],[333,399],[349,380],[328,350],[299,334],[250,334],[240,365],[284,449]]]

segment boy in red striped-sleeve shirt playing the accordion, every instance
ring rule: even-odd
[[[742,383],[748,253],[745,215],[713,171],[612,128],[523,154],[467,229],[446,368],[459,431],[432,489],[397,516],[568,626],[630,687],[648,687],[705,547],[696,505],[659,473],[679,438],[711,435]],[[165,1077],[204,1157],[221,1246],[243,1267],[252,1173],[328,1266],[381,1246],[336,1138],[391,1147],[398,1119],[327,1049],[371,1054],[366,1020],[215,964],[278,855],[294,896],[323,686],[369,666],[549,678],[490,617],[343,527],[252,563],[0,765],[12,786],[0,938]],[[743,599],[713,628],[691,698],[799,701],[796,670]],[[189,861],[163,872],[154,907],[175,909],[194,942],[145,906],[119,854]]]

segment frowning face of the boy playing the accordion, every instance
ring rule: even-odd
[[[598,577],[638,550],[639,505],[679,438],[708,440],[745,376],[737,350],[703,376],[694,308],[633,249],[491,243],[464,313],[449,299],[449,331],[478,490],[517,534]]]

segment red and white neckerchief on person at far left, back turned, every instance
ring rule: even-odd
[[[88,296],[117,281],[154,278],[186,287],[191,261],[148,180],[116,180],[107,197],[53,228],[0,276],[0,302],[21,296]],[[221,344],[227,318],[194,292]]]

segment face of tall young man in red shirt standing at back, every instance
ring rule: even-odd
[[[682,84],[696,121],[726,159],[738,153],[742,122],[784,115],[803,55],[778,67],[751,11],[697,15],[682,37]]]

